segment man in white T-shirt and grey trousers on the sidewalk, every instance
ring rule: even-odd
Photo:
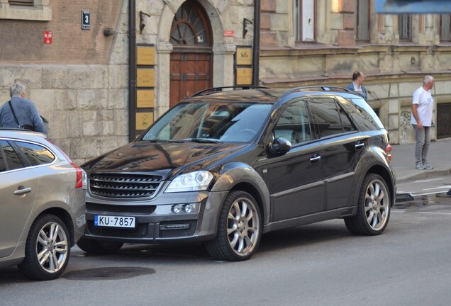
[[[415,130],[415,167],[418,170],[433,169],[428,163],[428,149],[430,145],[430,126],[433,123],[434,100],[430,95],[434,78],[425,76],[423,86],[413,93],[411,123]]]

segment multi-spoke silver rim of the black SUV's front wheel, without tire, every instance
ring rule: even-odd
[[[240,256],[250,254],[260,234],[259,215],[247,198],[238,198],[230,206],[227,234],[230,247]]]

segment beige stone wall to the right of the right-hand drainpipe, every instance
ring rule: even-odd
[[[357,42],[355,1],[316,0],[316,42],[306,43],[294,40],[293,11],[287,9],[293,3],[262,1],[262,84],[346,86],[352,72],[361,70],[367,77],[368,102],[394,144],[415,142],[411,98],[426,74],[435,77],[436,103],[450,103],[451,44],[440,42],[438,15],[413,15],[412,40],[400,42],[398,16],[377,14],[370,0],[370,40]]]

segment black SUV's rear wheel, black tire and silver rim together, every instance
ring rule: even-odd
[[[389,223],[390,199],[389,188],[382,176],[367,174],[360,189],[357,214],[345,217],[347,230],[366,236],[382,234]]]

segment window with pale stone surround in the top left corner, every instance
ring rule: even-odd
[[[0,19],[51,21],[50,0],[1,0]]]

